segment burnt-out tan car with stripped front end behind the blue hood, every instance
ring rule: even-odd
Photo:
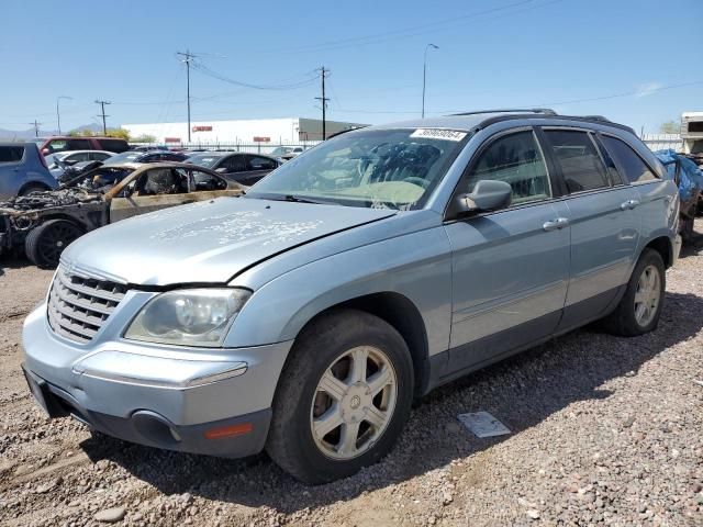
[[[96,167],[57,190],[0,203],[0,254],[23,247],[33,264],[53,269],[63,250],[87,232],[168,206],[239,195],[242,189],[182,162]]]

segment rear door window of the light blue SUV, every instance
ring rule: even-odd
[[[546,130],[570,193],[610,187],[605,167],[585,132]]]

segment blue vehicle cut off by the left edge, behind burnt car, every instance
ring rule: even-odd
[[[57,186],[34,143],[0,143],[0,198],[25,195]]]

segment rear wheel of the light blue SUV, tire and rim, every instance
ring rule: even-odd
[[[648,282],[650,279],[646,278],[645,272],[649,277],[656,276],[651,279],[656,283]],[[651,288],[647,287],[645,282]],[[654,330],[659,324],[665,289],[666,272],[661,255],[656,250],[645,249],[629,277],[627,289],[620,304],[613,313],[603,319],[604,328],[609,333],[622,337],[636,337]],[[647,311],[648,314],[645,313]]]

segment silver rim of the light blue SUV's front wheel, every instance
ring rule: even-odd
[[[398,399],[398,377],[379,348],[359,346],[325,370],[310,408],[310,429],[320,451],[348,460],[383,435]]]

